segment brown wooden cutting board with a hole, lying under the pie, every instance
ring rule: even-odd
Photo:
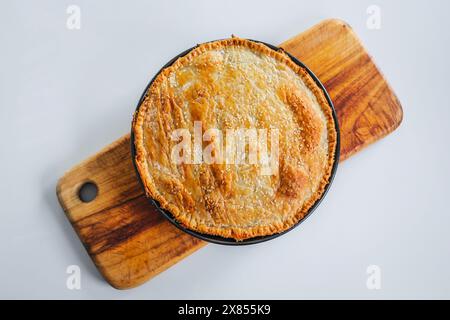
[[[280,46],[327,88],[341,128],[341,160],[399,126],[403,113],[397,97],[345,22],[325,20]],[[85,203],[78,191],[89,181],[99,191]],[[95,265],[115,288],[140,285],[206,245],[166,221],[145,198],[129,134],[68,171],[57,194]]]

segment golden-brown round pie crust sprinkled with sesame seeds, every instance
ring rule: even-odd
[[[279,170],[176,164],[171,132],[279,130]],[[135,163],[148,197],[185,227],[236,240],[283,232],[322,196],[335,158],[330,105],[284,52],[231,38],[197,46],[162,70],[133,119]]]

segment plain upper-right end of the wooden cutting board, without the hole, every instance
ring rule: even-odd
[[[327,89],[339,119],[341,161],[400,125],[400,102],[344,21],[325,20],[280,46],[304,62]]]

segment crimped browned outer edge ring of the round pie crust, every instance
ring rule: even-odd
[[[255,51],[259,51],[261,53],[267,54],[270,57],[273,57],[277,59],[280,62],[285,63],[287,66],[289,66],[291,69],[293,69],[304,81],[304,83],[307,85],[307,87],[314,93],[314,95],[317,98],[317,101],[319,102],[322,111],[327,119],[327,132],[328,132],[328,166],[326,168],[326,171],[322,177],[322,181],[319,185],[319,188],[314,193],[314,195],[308,199],[302,206],[300,210],[296,212],[295,215],[289,217],[283,222],[267,225],[267,226],[252,226],[249,228],[243,228],[243,227],[211,227],[204,223],[201,223],[197,221],[195,226],[192,226],[191,220],[183,215],[178,207],[170,204],[157,190],[156,186],[154,185],[153,179],[151,175],[148,174],[148,165],[146,161],[146,150],[144,147],[144,130],[143,130],[143,123],[145,119],[145,114],[147,113],[148,104],[145,104],[146,100],[150,96],[149,93],[151,93],[153,90],[156,90],[155,88],[159,87],[159,84],[163,82],[163,80],[170,75],[170,73],[173,70],[176,70],[190,61],[192,61],[193,58],[200,55],[203,52],[219,49],[223,47],[229,47],[229,46],[243,46],[250,49],[253,49]],[[171,66],[163,69],[155,78],[153,83],[151,84],[148,92],[146,93],[145,99],[142,101],[141,105],[139,106],[138,110],[135,112],[133,117],[133,123],[132,123],[132,130],[134,133],[134,144],[135,144],[135,164],[137,167],[137,170],[139,172],[141,181],[145,188],[145,193],[147,197],[152,198],[159,202],[161,208],[168,210],[174,218],[181,223],[183,226],[185,226],[188,229],[191,229],[193,231],[204,233],[204,234],[210,234],[210,235],[216,235],[221,236],[225,238],[233,238],[235,240],[244,240],[259,236],[268,236],[273,235],[276,233],[281,233],[283,231],[286,231],[290,228],[292,228],[294,225],[296,225],[300,220],[302,220],[305,215],[308,213],[309,209],[316,203],[317,200],[319,200],[323,193],[325,192],[325,188],[327,184],[330,181],[330,177],[333,170],[333,165],[335,161],[335,152],[336,152],[336,145],[337,145],[337,132],[336,132],[336,126],[335,121],[333,118],[333,112],[332,108],[329,105],[324,92],[322,89],[315,83],[314,79],[309,75],[309,73],[306,71],[306,69],[300,67],[296,63],[294,63],[291,58],[284,53],[282,50],[275,51],[264,44],[253,42],[247,39],[241,39],[241,38],[230,38],[230,39],[224,39],[224,40],[218,40],[213,42],[208,42],[201,44],[191,50],[187,55],[178,58]]]

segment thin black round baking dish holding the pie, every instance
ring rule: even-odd
[[[236,240],[233,238],[225,238],[225,237],[221,237],[221,236],[215,236],[215,235],[209,235],[209,234],[205,234],[205,233],[200,233],[191,229],[188,229],[187,227],[185,227],[183,224],[181,224],[180,222],[178,222],[175,217],[172,215],[172,213],[170,213],[169,211],[161,208],[160,204],[158,201],[149,198],[147,195],[147,198],[149,199],[149,201],[156,207],[156,209],[167,219],[169,220],[169,222],[171,222],[174,226],[176,226],[178,229],[190,234],[191,236],[194,236],[196,238],[199,238],[201,240],[207,241],[207,242],[211,242],[211,243],[216,243],[216,244],[222,244],[222,245],[249,245],[249,244],[256,244],[256,243],[261,243],[261,242],[265,242],[268,240],[272,240],[275,239],[289,231],[291,231],[292,229],[296,228],[298,225],[300,225],[300,223],[302,223],[303,221],[306,220],[307,217],[309,217],[311,215],[311,213],[319,206],[319,204],[322,202],[323,198],[325,197],[325,195],[327,194],[331,183],[333,182],[334,176],[336,175],[336,170],[338,167],[338,163],[339,163],[339,152],[340,152],[340,131],[339,131],[339,124],[338,124],[338,118],[337,118],[337,114],[336,114],[336,110],[334,109],[334,105],[333,102],[330,99],[330,96],[327,92],[327,90],[325,89],[325,87],[323,86],[323,84],[320,82],[320,80],[317,78],[317,76],[307,67],[305,66],[301,61],[299,61],[297,58],[293,57],[291,54],[289,54],[288,52],[284,51],[281,48],[278,48],[274,45],[262,42],[262,41],[257,41],[257,40],[251,40],[248,39],[249,41],[253,41],[253,42],[257,42],[257,43],[261,43],[264,44],[265,46],[267,46],[268,48],[275,50],[275,51],[280,51],[282,50],[284,53],[286,53],[289,58],[297,65],[299,65],[300,67],[304,68],[308,74],[311,76],[311,78],[313,78],[313,80],[316,82],[316,84],[320,87],[320,89],[323,91],[328,104],[331,107],[332,110],[332,114],[333,114],[333,120],[334,120],[334,124],[335,124],[335,129],[336,129],[336,150],[334,152],[334,162],[333,162],[333,167],[331,170],[331,175],[329,178],[329,181],[327,183],[327,185],[325,186],[325,190],[322,193],[321,197],[319,199],[316,200],[316,202],[311,206],[311,208],[309,208],[308,212],[305,214],[305,216],[299,220],[295,225],[293,225],[291,228],[280,232],[280,233],[276,233],[276,234],[272,234],[272,235],[267,235],[267,236],[259,236],[259,237],[254,237],[254,238],[249,238],[249,239],[245,239],[245,240]],[[156,75],[152,78],[152,80],[149,82],[149,84],[147,85],[147,87],[145,88],[141,98],[139,99],[139,103],[136,107],[136,113],[139,111],[140,106],[142,105],[142,102],[144,101],[146,95],[147,95],[147,91],[150,88],[150,86],[152,85],[153,81],[156,79],[156,77],[161,73],[162,70],[164,70],[165,68],[171,66],[178,58],[181,58],[183,56],[185,56],[186,54],[188,54],[191,50],[197,48],[199,45],[196,45],[182,53],[180,53],[179,55],[177,55],[176,57],[174,57],[173,59],[171,59],[167,64],[165,64],[157,73]],[[135,113],[135,114],[136,114]],[[133,129],[131,129],[131,157],[133,159],[133,165],[134,165],[134,169],[136,171],[136,175],[139,179],[139,182],[142,186],[142,189],[145,192],[145,187],[144,184],[142,182],[141,176],[139,174],[139,171],[137,169],[137,165],[136,165],[136,147],[135,147],[135,143],[134,143],[134,133],[133,133]]]

